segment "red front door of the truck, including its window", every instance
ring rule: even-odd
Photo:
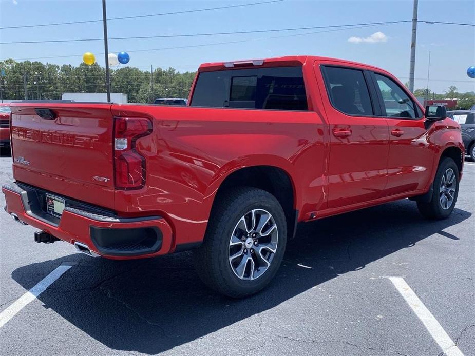
[[[389,179],[384,195],[425,189],[431,178],[434,154],[427,141],[422,110],[389,76],[374,72],[372,77],[389,126]]]

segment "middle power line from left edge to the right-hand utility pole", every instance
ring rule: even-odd
[[[315,29],[321,29],[321,28],[339,28],[339,27],[368,26],[368,25],[372,25],[372,26],[373,25],[389,25],[389,24],[401,24],[401,23],[405,23],[405,22],[411,22],[411,20],[370,22],[370,23],[349,24],[349,25],[295,27],[295,28],[283,28],[283,29],[272,29],[272,30],[214,32],[214,33],[191,33],[191,34],[175,34],[175,35],[160,35],[160,36],[114,37],[114,38],[109,38],[108,40],[112,41],[113,39],[176,38],[176,37],[216,36],[216,35],[229,35],[229,34],[250,34],[250,33],[263,33],[263,32],[315,30]],[[51,40],[46,40],[46,41],[0,42],[0,44],[2,44],[2,45],[12,45],[12,44],[31,44],[31,43],[92,42],[92,41],[104,41],[104,38],[51,39]]]

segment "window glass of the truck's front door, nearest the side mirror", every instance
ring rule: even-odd
[[[390,117],[415,118],[414,103],[406,92],[386,76],[375,73],[376,83],[383,97],[386,115]],[[384,114],[384,113],[383,113]]]

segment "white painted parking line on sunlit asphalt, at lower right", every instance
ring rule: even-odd
[[[442,328],[441,324],[434,318],[434,315],[421,302],[419,297],[415,295],[414,291],[404,281],[402,277],[389,277],[397,291],[401,293],[412,311],[419,317],[426,329],[432,335],[432,338],[442,348],[442,351],[447,356],[463,356],[460,349],[454,344],[449,335]]]

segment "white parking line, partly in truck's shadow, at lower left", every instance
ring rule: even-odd
[[[56,281],[58,278],[63,275],[71,265],[61,265],[56,267],[50,274],[48,274],[44,279],[40,281],[37,285],[31,288],[28,292],[23,294],[19,299],[17,299],[12,305],[0,313],[0,328],[3,327],[11,318],[13,318],[16,313],[22,310],[29,303],[34,301],[37,296],[45,291],[51,283]]]

